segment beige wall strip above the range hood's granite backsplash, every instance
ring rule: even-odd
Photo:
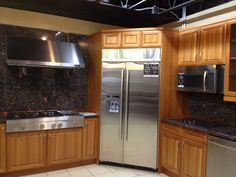
[[[43,13],[0,7],[0,24],[25,26],[53,31],[63,31],[75,34],[91,35],[102,29],[117,28],[117,26]]]

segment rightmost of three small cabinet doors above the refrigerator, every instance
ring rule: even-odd
[[[143,31],[142,47],[161,47],[161,32]]]

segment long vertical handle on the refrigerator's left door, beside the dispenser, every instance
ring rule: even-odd
[[[123,87],[124,87],[124,69],[121,70],[121,81],[120,81],[120,139],[123,140]]]

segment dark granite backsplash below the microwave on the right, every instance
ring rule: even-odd
[[[224,102],[223,95],[188,93],[188,117],[236,123],[236,103]]]

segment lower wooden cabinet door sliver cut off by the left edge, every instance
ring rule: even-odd
[[[6,171],[6,129],[0,124],[0,173]]]

